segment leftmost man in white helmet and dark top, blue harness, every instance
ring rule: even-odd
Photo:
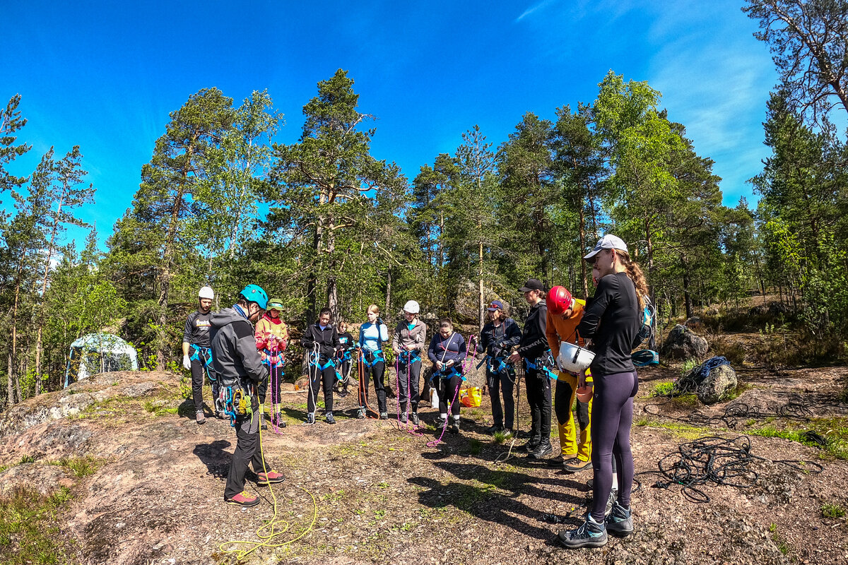
[[[209,326],[212,318],[212,300],[215,292],[204,286],[198,292],[198,310],[188,315],[182,332],[182,367],[192,372],[192,400],[195,419],[204,424],[204,374],[214,381],[212,354],[209,351]],[[213,391],[213,399],[215,391]],[[215,406],[215,404],[213,404]]]

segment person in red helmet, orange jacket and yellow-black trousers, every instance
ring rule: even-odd
[[[574,298],[564,286],[551,288],[546,302],[548,319],[544,335],[548,338],[550,351],[556,355],[560,351],[560,345],[566,342],[584,346],[583,339],[577,334],[577,324],[583,318],[586,302]],[[579,438],[574,426],[572,406],[577,392],[577,378],[577,374],[561,370],[556,372],[554,412],[559,424],[561,454],[548,461],[551,465],[562,465],[569,473],[577,473],[592,465],[591,400],[577,402]]]

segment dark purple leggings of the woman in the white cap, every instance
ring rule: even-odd
[[[612,488],[612,457],[618,474],[618,503],[630,506],[633,488],[633,453],[630,426],[633,424],[633,396],[639,391],[636,371],[605,374],[594,378],[592,401],[592,518],[604,519],[606,501]]]

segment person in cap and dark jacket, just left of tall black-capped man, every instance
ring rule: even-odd
[[[492,400],[494,419],[494,424],[486,433],[494,434],[506,429],[507,434],[510,434],[516,415],[516,402],[512,397],[516,368],[512,363],[507,363],[506,358],[512,347],[521,341],[522,330],[519,330],[514,319],[507,318],[503,302],[493,300],[486,310],[490,321],[480,332],[480,349],[486,353],[486,385]],[[500,407],[500,395],[504,396],[503,408]]]

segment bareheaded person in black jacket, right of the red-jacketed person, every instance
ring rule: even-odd
[[[338,333],[330,324],[330,308],[322,308],[318,322],[306,328],[300,345],[309,357],[310,391],[306,396],[306,423],[315,424],[315,400],[324,382],[324,410],[327,424],[335,424],[332,417],[332,385],[336,382],[336,352],[341,343]]]

